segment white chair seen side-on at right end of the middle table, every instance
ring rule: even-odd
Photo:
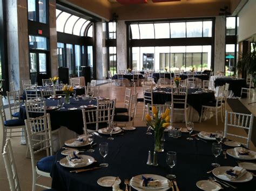
[[[216,100],[213,102],[209,102],[205,105],[202,105],[200,122],[203,118],[204,112],[209,111],[209,110],[214,111],[213,114],[215,114],[216,125],[218,125],[218,113],[220,113],[221,121],[223,122],[222,103],[223,103],[224,90],[225,90],[225,85],[219,86],[218,91],[217,91],[217,97],[215,98]]]

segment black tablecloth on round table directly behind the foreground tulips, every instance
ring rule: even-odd
[[[164,92],[153,91],[153,103],[154,104],[165,104],[167,101],[172,100],[171,88],[158,88]],[[189,88],[187,93],[187,104],[191,105],[198,113],[201,114],[202,105],[215,100],[214,92],[203,92],[196,93],[198,88]],[[170,92],[170,93],[166,93]]]

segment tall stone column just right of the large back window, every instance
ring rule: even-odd
[[[215,54],[214,54],[214,75],[218,71],[225,72],[225,37],[226,18],[218,16],[215,19]]]

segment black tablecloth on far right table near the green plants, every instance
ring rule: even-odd
[[[214,86],[223,86],[226,83],[230,84],[228,90],[232,90],[235,97],[240,97],[242,87],[246,87],[246,80],[241,78],[216,78]]]

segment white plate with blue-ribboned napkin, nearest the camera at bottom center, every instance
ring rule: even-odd
[[[144,176],[142,176],[142,177],[144,177]],[[143,180],[143,178],[139,179],[139,178],[133,177],[131,179],[131,184],[136,186],[136,187],[139,187],[139,188],[145,188],[146,187],[145,180],[147,180],[147,187],[157,187],[159,189],[169,188],[169,182],[168,182],[167,179],[165,179],[165,180],[154,180],[152,178],[145,178],[144,177],[144,180]]]

